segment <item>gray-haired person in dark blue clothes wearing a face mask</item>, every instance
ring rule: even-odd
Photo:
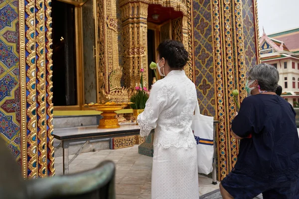
[[[223,199],[299,199],[299,137],[292,105],[276,95],[279,73],[269,64],[254,66],[249,97],[232,121],[240,139],[238,160],[220,183]]]

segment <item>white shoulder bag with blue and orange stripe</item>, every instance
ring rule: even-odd
[[[197,166],[200,174],[208,175],[213,171],[213,122],[214,117],[200,114],[197,103],[191,128],[197,142]]]

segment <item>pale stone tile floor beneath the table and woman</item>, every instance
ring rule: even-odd
[[[150,199],[152,158],[138,154],[138,145],[82,153],[70,164],[70,173],[93,168],[103,160],[116,163],[117,199]],[[55,169],[56,175],[62,175],[62,157],[55,157]],[[199,175],[198,181],[200,196],[219,189],[218,185],[212,185],[212,179]]]

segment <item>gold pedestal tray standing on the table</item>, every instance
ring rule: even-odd
[[[86,104],[89,108],[92,108],[97,111],[102,111],[101,115],[103,116],[100,119],[100,124],[98,128],[119,128],[121,127],[116,118],[117,113],[115,111],[122,110],[128,106],[127,103],[111,103],[107,102],[105,104]]]

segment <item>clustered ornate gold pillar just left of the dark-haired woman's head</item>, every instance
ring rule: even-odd
[[[125,4],[124,4],[125,3]],[[140,84],[144,68],[144,86],[148,87],[148,7],[144,2],[121,2],[124,45],[124,80],[127,88]]]

